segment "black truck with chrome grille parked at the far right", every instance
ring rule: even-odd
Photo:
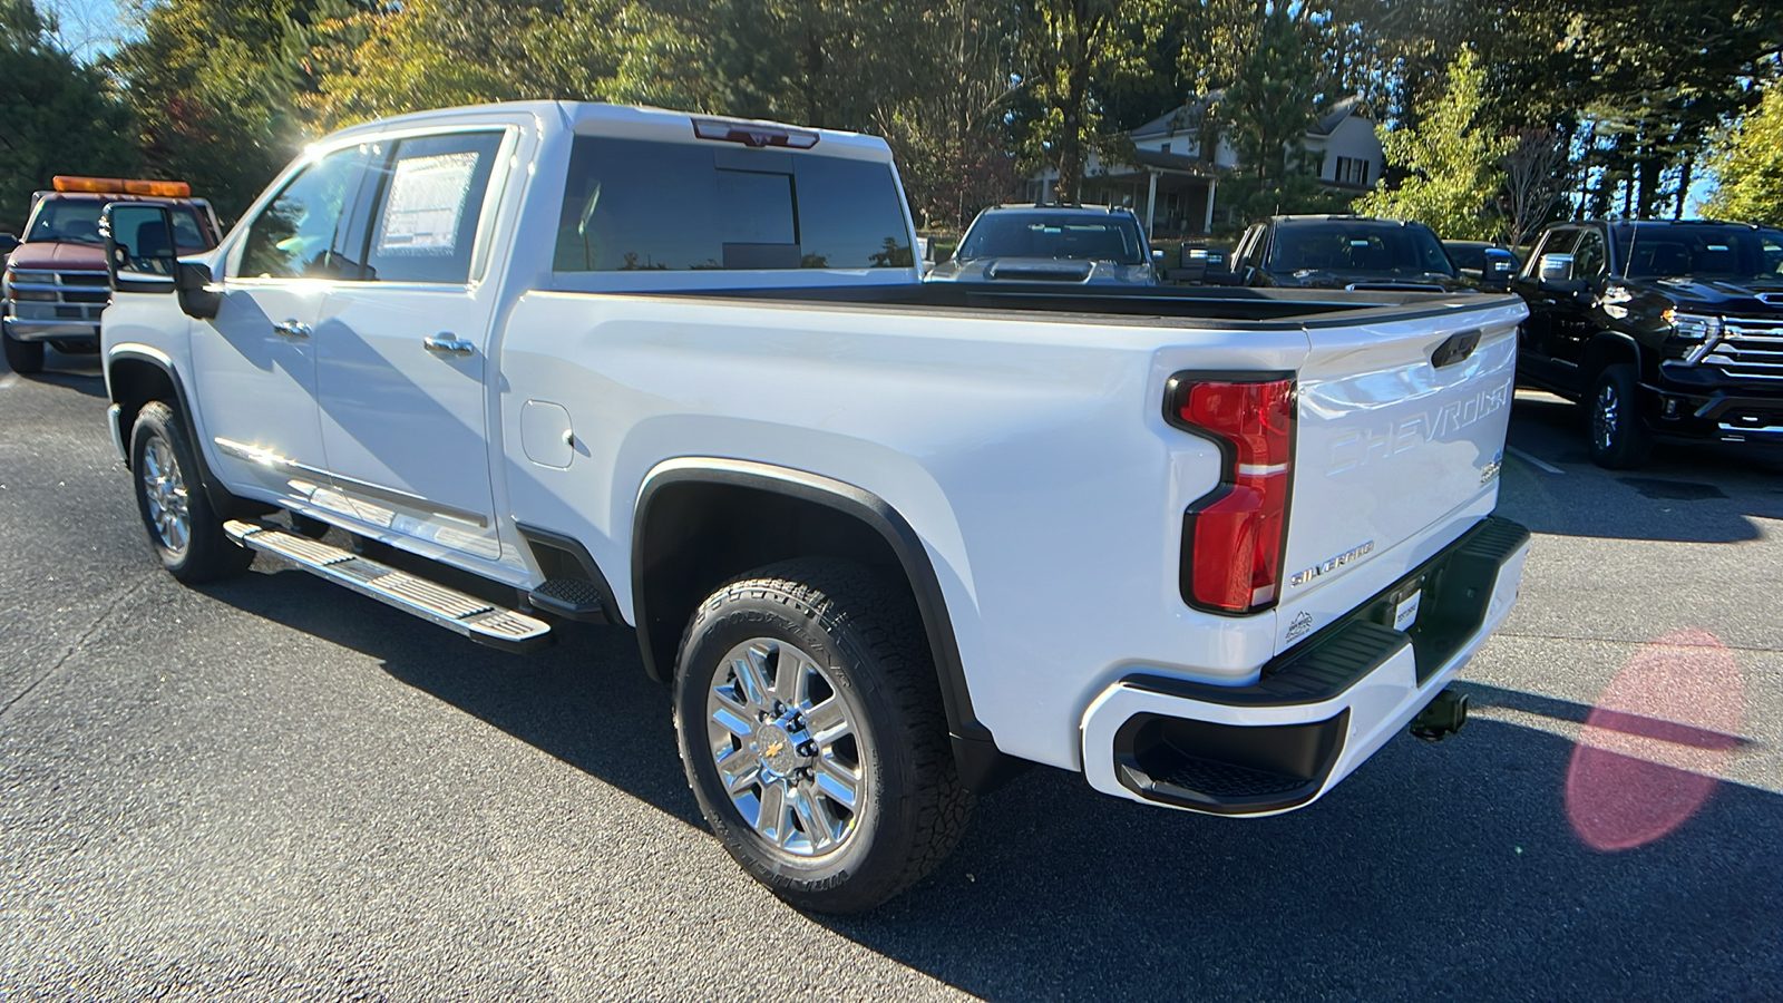
[[[1555,225],[1514,287],[1517,382],[1589,409],[1598,466],[1640,466],[1655,434],[1783,441],[1783,230]]]

